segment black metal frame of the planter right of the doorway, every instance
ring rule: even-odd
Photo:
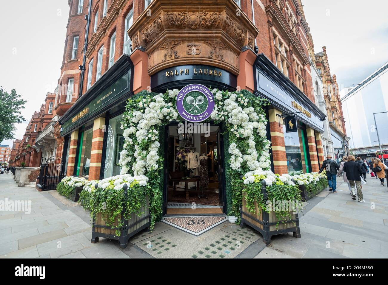
[[[267,185],[265,184],[265,180],[262,180],[262,193],[263,193],[264,199],[267,199],[267,197],[268,197],[267,196]],[[244,199],[244,197],[242,199]],[[283,228],[283,229],[279,229],[279,230],[270,230],[270,227],[271,226],[275,226],[277,224],[277,221],[270,222],[269,213],[267,213],[267,212],[265,212],[263,210],[261,210],[261,211],[262,211],[262,221],[260,221],[256,216],[253,216],[251,213],[244,212],[242,210],[242,207],[240,207],[240,216],[241,216],[240,227],[244,228],[244,227],[246,227],[246,225],[248,225],[249,227],[254,228],[256,231],[258,231],[258,232],[260,232],[262,234],[263,240],[264,240],[264,242],[266,244],[270,244],[271,243],[271,237],[273,235],[279,235],[279,234],[282,234],[282,233],[292,232],[294,237],[296,237],[296,238],[300,238],[301,237],[301,235],[300,235],[300,228],[299,228],[299,216],[298,216],[298,213],[295,214],[295,218],[294,219],[284,221],[284,223],[286,223],[286,224],[288,224],[288,223],[295,223],[294,227]],[[250,221],[244,219],[243,215],[247,216],[248,218],[250,218],[250,219],[256,221],[257,223],[259,223],[260,225],[262,225],[263,229],[261,229],[257,225],[254,225]],[[281,225],[281,224],[282,223],[279,223],[279,225]]]

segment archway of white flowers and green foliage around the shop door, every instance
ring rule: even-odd
[[[238,216],[242,201],[242,175],[270,168],[270,141],[263,106],[268,101],[247,90],[213,89],[215,108],[211,120],[223,124],[227,211]],[[183,119],[177,113],[178,90],[166,93],[141,91],[128,99],[121,128],[124,149],[120,155],[121,174],[148,178],[151,187],[151,227],[162,214],[164,127]],[[205,121],[206,122],[206,121]]]

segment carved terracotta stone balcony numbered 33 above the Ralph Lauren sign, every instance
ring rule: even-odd
[[[148,74],[203,64],[239,74],[243,46],[258,29],[233,0],[154,0],[128,30],[133,49],[148,55]]]

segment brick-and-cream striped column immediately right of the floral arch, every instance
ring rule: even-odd
[[[286,146],[284,144],[283,133],[283,120],[276,114],[282,114],[281,111],[276,109],[268,110],[269,115],[269,127],[271,131],[272,142],[272,156],[274,159],[274,171],[275,173],[284,174],[288,173],[287,158],[286,158]]]

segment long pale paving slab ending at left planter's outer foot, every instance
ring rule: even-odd
[[[64,237],[50,240],[49,242],[37,244],[36,247],[38,249],[39,255],[45,255],[49,254],[50,252],[57,251],[59,249],[72,247],[76,244],[82,244],[83,242],[90,243],[90,240],[87,239],[87,237],[85,237],[85,235],[83,235],[82,233],[77,233],[75,235],[66,235]]]

